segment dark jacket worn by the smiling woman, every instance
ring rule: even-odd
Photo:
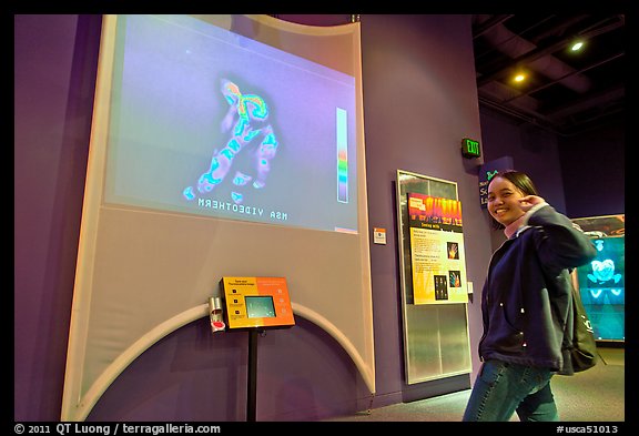
[[[528,214],[527,224],[490,260],[479,357],[571,373],[562,353],[572,339],[568,270],[587,264],[597,251],[552,206],[542,203]]]

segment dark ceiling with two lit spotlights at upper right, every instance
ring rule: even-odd
[[[623,14],[473,16],[479,104],[562,136],[622,123],[626,37]]]

